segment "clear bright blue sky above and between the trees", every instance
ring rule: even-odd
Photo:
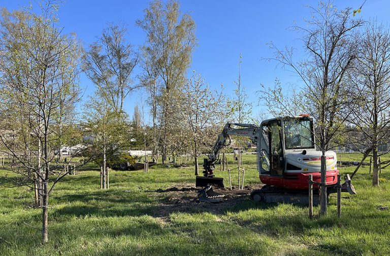
[[[358,9],[363,2],[338,0],[334,5]],[[2,0],[0,7],[12,11],[28,3],[27,0]],[[122,22],[128,28],[127,40],[138,47],[146,37],[135,21],[143,18],[143,10],[148,4],[149,1],[66,0],[60,7],[58,17],[63,31],[76,33],[84,46],[95,41],[108,22]],[[181,12],[189,13],[196,22],[199,43],[193,53],[189,73],[196,70],[214,88],[223,83],[226,94],[232,96],[234,81],[238,76],[239,56],[242,54],[241,81],[249,100],[253,102],[252,113],[255,114],[263,108],[257,106],[255,93],[260,84],[273,86],[275,78],[278,78],[286,90],[300,85],[297,76],[281,70],[276,62],[267,62],[263,58],[273,55],[266,45],[270,41],[278,47],[293,46],[298,50],[295,59],[304,58],[302,51],[299,51],[302,49],[300,35],[288,27],[294,21],[304,24],[304,18],[310,18],[307,5],[317,6],[317,1],[181,0]],[[389,14],[390,1],[367,0],[358,15],[367,20],[376,18],[388,25]],[[94,89],[84,75],[81,75],[81,86],[86,94]],[[134,106],[141,104],[142,95],[142,91],[137,91],[126,99],[125,110],[130,116]]]

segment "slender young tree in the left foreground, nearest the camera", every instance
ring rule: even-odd
[[[56,143],[63,138],[55,130],[64,123],[71,125],[70,113],[79,99],[80,47],[74,35],[62,33],[58,6],[51,1],[40,4],[40,14],[31,8],[13,13],[2,10],[0,97],[5,104],[0,143],[6,149],[3,153],[13,159],[10,171],[18,174],[15,185],[32,187],[37,193],[42,243],[46,243],[49,196],[67,175],[64,169],[56,174],[50,170]]]

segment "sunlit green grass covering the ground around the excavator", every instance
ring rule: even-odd
[[[358,154],[342,156],[355,158],[359,161]],[[255,187],[255,156],[245,155],[243,162],[245,183]],[[343,174],[353,170],[341,168]],[[0,255],[390,254],[390,209],[379,209],[390,206],[390,170],[382,171],[380,187],[372,187],[368,167],[362,167],[353,179],[358,195],[343,195],[340,219],[333,195],[328,215],[318,217],[315,207],[314,219],[307,207],[252,202],[249,190],[226,207],[199,206],[192,199],[196,190],[190,189],[193,172],[159,166],[147,174],[114,171],[108,190],[99,189],[97,171],[67,176],[50,198],[46,245],[40,244],[38,230],[24,224],[41,225],[41,210],[28,207],[32,191],[1,187]],[[218,169],[216,176],[227,173]],[[175,186],[188,191],[176,193],[170,189]]]

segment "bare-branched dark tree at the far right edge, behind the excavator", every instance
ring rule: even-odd
[[[351,76],[350,97],[358,105],[348,108],[350,144],[373,157],[372,185],[379,185],[378,148],[390,142],[390,32],[376,21],[367,22],[359,40],[358,61]],[[358,135],[358,136],[356,136]]]

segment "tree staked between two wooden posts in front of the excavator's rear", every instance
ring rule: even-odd
[[[310,7],[311,8],[311,7]],[[303,86],[300,103],[302,111],[310,113],[317,121],[317,146],[322,151],[321,156],[321,202],[320,213],[326,214],[328,209],[326,186],[326,151],[332,141],[345,127],[348,115],[343,115],[347,105],[354,106],[356,102],[347,95],[348,72],[357,58],[357,45],[353,38],[356,28],[363,24],[361,19],[352,18],[352,9],[339,10],[330,2],[320,2],[317,8],[311,8],[311,19],[306,26],[294,26],[298,33],[303,33],[303,42],[307,58],[300,62],[293,60],[293,50],[281,50],[273,43],[270,48],[275,51],[275,58],[282,66],[296,73]],[[285,108],[276,91],[282,91],[277,86],[274,90],[263,90],[262,99],[271,103],[270,108],[280,109],[290,113]]]

